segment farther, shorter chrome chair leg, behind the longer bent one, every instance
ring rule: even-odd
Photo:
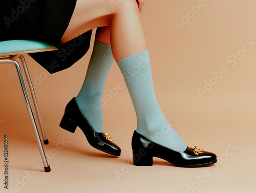
[[[41,113],[40,113],[40,110],[38,108],[38,103],[37,103],[37,100],[36,100],[34,87],[33,87],[33,84],[32,84],[32,81],[31,81],[31,78],[30,78],[30,75],[29,75],[29,71],[28,71],[26,60],[25,60],[23,55],[20,55],[19,59],[22,61],[22,64],[23,64],[23,67],[24,67],[24,71],[25,71],[25,74],[26,74],[26,78],[27,78],[27,81],[28,81],[28,84],[29,84],[30,92],[31,92],[33,103],[34,103],[34,106],[35,106],[36,116],[37,116],[37,119],[38,119],[38,122],[39,122],[39,125],[40,125],[40,130],[41,130],[42,138],[44,140],[44,143],[48,144],[49,141],[47,139],[44,123],[42,122]]]

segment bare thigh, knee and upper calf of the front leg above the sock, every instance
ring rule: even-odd
[[[116,61],[147,50],[136,0],[120,2],[113,7],[109,0],[77,0],[61,41],[69,41],[94,28],[110,26],[112,52]]]

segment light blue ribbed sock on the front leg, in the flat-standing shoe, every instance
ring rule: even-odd
[[[155,143],[183,152],[186,145],[164,117],[154,91],[148,51],[117,62],[137,116],[137,132]]]

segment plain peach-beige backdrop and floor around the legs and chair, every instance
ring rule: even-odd
[[[193,8],[197,13],[189,7],[195,5],[201,5],[200,10]],[[72,68],[53,75],[25,55],[50,141],[45,151],[52,171],[33,170],[42,163],[25,102],[14,68],[1,65],[0,160],[8,134],[9,188],[16,192],[256,192],[256,43],[251,47],[246,43],[256,42],[255,7],[254,0],[145,1],[141,17],[162,111],[187,145],[216,153],[217,164],[179,168],[154,159],[153,167],[133,166],[136,116],[116,63],[105,85],[103,119],[105,132],[122,154],[115,158],[97,151],[79,129],[71,134],[58,126],[67,102],[79,92],[92,50]],[[182,14],[190,17],[189,22],[182,20]],[[177,30],[175,24],[182,22]],[[233,53],[239,58],[228,62]],[[221,70],[222,77],[214,78],[213,72]],[[200,97],[197,89],[204,89],[205,81],[214,85],[208,85]],[[118,82],[123,89],[108,98]],[[57,151],[62,139],[66,143]],[[4,179],[3,167],[0,179]],[[3,186],[1,192],[8,192]]]

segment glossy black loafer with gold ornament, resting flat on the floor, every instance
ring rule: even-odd
[[[133,164],[138,166],[152,166],[153,157],[164,159],[178,167],[202,167],[217,162],[217,156],[205,152],[197,147],[187,147],[184,152],[154,143],[134,131],[132,139]]]

